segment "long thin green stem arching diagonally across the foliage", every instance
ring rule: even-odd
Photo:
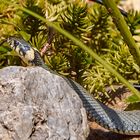
[[[140,93],[139,91],[137,91],[125,78],[123,78],[114,68],[112,68],[106,61],[104,61],[101,57],[99,57],[95,52],[92,51],[92,49],[90,49],[88,46],[86,46],[85,44],[83,44],[80,40],[78,40],[76,37],[74,37],[72,34],[70,34],[69,32],[67,32],[66,30],[60,28],[58,25],[56,25],[55,23],[52,23],[50,21],[48,21],[47,19],[45,19],[44,17],[26,9],[20,6],[17,6],[19,9],[21,9],[22,11],[42,20],[43,22],[46,22],[48,24],[48,26],[54,28],[55,30],[57,30],[58,32],[60,32],[61,34],[65,35],[67,38],[71,39],[75,44],[77,44],[79,47],[81,47],[83,50],[85,50],[86,52],[88,52],[94,59],[96,59],[98,62],[100,62],[106,69],[108,69],[113,75],[115,75],[122,83],[124,83],[129,89],[130,91],[132,91],[132,93],[134,93],[139,99],[140,99]]]

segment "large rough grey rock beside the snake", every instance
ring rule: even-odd
[[[85,140],[82,102],[66,81],[40,67],[0,70],[0,140]]]

